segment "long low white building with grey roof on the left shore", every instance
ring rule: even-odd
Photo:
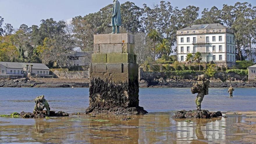
[[[0,62],[0,75],[49,75],[49,68],[42,63]]]

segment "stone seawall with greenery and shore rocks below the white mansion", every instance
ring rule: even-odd
[[[173,72],[144,72],[140,70],[139,84],[141,88],[145,87],[165,87],[165,88],[189,88],[196,81],[198,75],[204,74],[204,71],[195,71],[191,74],[175,75]],[[235,87],[256,87],[256,83],[248,83],[248,76],[236,74],[234,72],[226,73],[218,71],[214,77],[208,77],[211,81],[211,87],[221,88],[230,85]]]

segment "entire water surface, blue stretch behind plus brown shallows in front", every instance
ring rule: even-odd
[[[88,88],[0,88],[0,114],[33,111],[33,99],[45,95],[51,110],[83,112],[88,106]],[[236,88],[234,98],[227,89],[212,88],[202,108],[211,111],[253,111],[255,88]],[[245,115],[209,120],[173,120],[173,111],[195,109],[195,95],[189,88],[140,89],[140,106],[147,115],[89,115],[53,119],[0,117],[0,143],[239,143],[250,131],[237,129]],[[97,122],[92,120],[106,120]]]

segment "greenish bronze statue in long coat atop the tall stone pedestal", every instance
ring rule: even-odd
[[[118,0],[113,0],[113,10],[112,10],[112,20],[111,20],[111,26],[112,26],[112,33],[115,33],[115,27],[116,27],[116,33],[120,33],[119,29],[120,26],[122,25],[121,22],[121,9],[120,9],[120,3]]]

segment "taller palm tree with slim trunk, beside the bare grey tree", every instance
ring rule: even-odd
[[[151,29],[149,31],[149,33],[147,34],[147,36],[150,38],[150,40],[152,40],[153,42],[153,49],[154,49],[154,56],[155,56],[155,49],[156,49],[156,45],[157,43],[160,43],[163,41],[163,35],[161,33],[159,33],[159,31],[157,29]],[[154,58],[155,59],[155,58]]]

